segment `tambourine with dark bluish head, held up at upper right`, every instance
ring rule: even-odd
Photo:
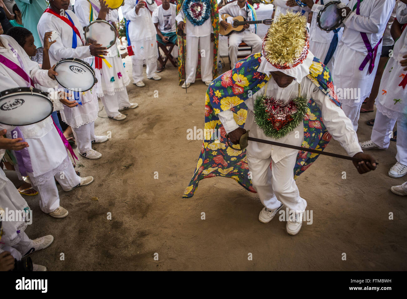
[[[337,7],[341,1],[330,1],[326,3],[318,12],[317,25],[324,31],[332,31],[341,26],[344,21],[342,10]]]

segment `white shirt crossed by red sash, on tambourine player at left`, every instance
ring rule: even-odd
[[[43,13],[38,21],[37,29],[39,36],[44,36],[45,33],[49,31],[57,32],[56,42],[50,46],[48,51],[51,65],[54,65],[62,58],[74,57],[85,59],[91,56],[89,46],[83,46],[85,44],[85,35],[83,34],[83,28],[77,16],[72,11],[66,11],[66,13],[71,17],[81,35],[81,38],[76,35],[77,47],[75,49],[72,48],[72,37],[74,33],[68,24],[51,13]],[[41,40],[41,42],[44,46],[44,40]]]

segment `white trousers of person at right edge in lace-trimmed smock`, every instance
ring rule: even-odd
[[[371,140],[379,146],[379,148],[388,148],[390,145],[390,137],[393,133],[394,125],[397,122],[397,155],[398,163],[407,165],[407,129],[403,125],[402,120],[396,118],[388,118],[379,110],[376,111],[376,118],[372,130]]]

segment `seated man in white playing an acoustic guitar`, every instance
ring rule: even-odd
[[[231,15],[232,17],[237,17],[238,15],[241,15],[245,17],[246,20],[252,21],[252,10],[249,8],[248,4],[246,3],[247,0],[236,0],[232,3],[229,3],[219,9],[219,16],[223,15],[224,13],[227,13],[228,15]],[[229,18],[228,18],[229,19]],[[220,25],[227,29],[228,25],[230,24],[230,20],[222,20],[221,17],[219,17],[220,20]],[[247,45],[252,46],[253,50],[252,53],[257,53],[260,52],[261,50],[261,39],[256,33],[253,32],[254,25],[249,25],[246,24],[245,30],[242,32],[233,32],[231,35],[229,35],[229,57],[230,57],[230,63],[232,67],[236,64],[237,62],[237,52],[238,52],[238,47],[241,44],[242,41],[244,41]]]

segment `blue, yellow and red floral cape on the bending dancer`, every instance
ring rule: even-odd
[[[194,176],[186,188],[183,198],[190,198],[194,195],[199,180],[215,176],[230,177],[247,190],[256,193],[248,175],[246,150],[239,151],[228,146],[226,131],[217,114],[231,109],[236,123],[240,127],[244,127],[247,117],[247,106],[244,101],[249,98],[249,91],[251,90],[252,94],[256,93],[269,80],[269,76],[256,71],[260,66],[260,57],[261,54],[256,53],[238,61],[233,70],[225,72],[210,84],[205,98],[205,130],[207,133],[204,133],[201,155],[199,155]],[[316,57],[313,59],[310,74],[307,77],[324,94],[328,95],[333,103],[341,107],[334,91],[329,69]],[[324,150],[328,145],[331,135],[324,126],[321,114],[321,110],[311,98],[304,116],[303,147]],[[220,134],[217,134],[218,130]],[[220,142],[215,142],[215,139],[219,139]],[[294,179],[297,179],[311,166],[318,156],[315,153],[299,151],[293,170]]]

